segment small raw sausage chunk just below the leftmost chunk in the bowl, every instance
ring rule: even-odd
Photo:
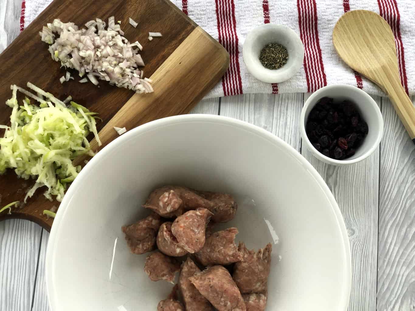
[[[166,280],[174,284],[174,276],[180,270],[180,264],[174,258],[160,252],[154,252],[147,256],[144,272],[151,281]]]

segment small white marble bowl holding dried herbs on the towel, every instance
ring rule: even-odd
[[[279,69],[267,69],[259,61],[261,50],[269,43],[279,43],[288,51],[288,61]],[[303,65],[304,46],[292,29],[284,25],[264,24],[249,32],[242,53],[251,75],[267,83],[280,83],[292,78]]]

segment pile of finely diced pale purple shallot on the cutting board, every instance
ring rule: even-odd
[[[137,93],[153,92],[151,80],[144,78],[144,61],[139,51],[143,47],[138,41],[130,43],[123,35],[115,18],[108,19],[108,27],[101,19],[90,20],[85,28],[79,29],[74,23],[63,23],[55,19],[44,26],[42,41],[50,44],[49,51],[55,61],[61,61],[65,68],[74,68],[95,85],[106,80],[111,85],[125,87]],[[55,39],[55,34],[59,38]],[[83,78],[80,82],[87,82]],[[62,81],[61,81],[62,82]]]

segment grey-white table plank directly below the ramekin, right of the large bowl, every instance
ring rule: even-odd
[[[304,95],[304,102],[309,96]],[[374,100],[380,104],[380,97]],[[329,186],[346,223],[353,273],[349,310],[376,310],[379,148],[369,158],[348,166],[323,163],[304,144],[301,153]]]

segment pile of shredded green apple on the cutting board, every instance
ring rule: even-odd
[[[98,145],[101,144],[94,113],[75,102],[67,107],[32,83],[27,83],[27,86],[38,96],[27,91],[23,93],[40,105],[32,104],[25,97],[19,106],[16,93],[23,89],[11,86],[12,98],[6,102],[12,107],[11,125],[0,126],[5,129],[3,138],[0,138],[0,174],[5,173],[7,168],[13,168],[19,177],[36,179],[24,202],[32,197],[37,188],[44,186],[48,188],[44,196],[49,200],[56,196],[60,202],[67,184],[81,170],[81,167],[72,164],[72,160],[78,155],[94,155],[86,136],[92,132]],[[45,100],[41,98],[43,96]]]

